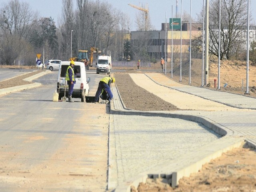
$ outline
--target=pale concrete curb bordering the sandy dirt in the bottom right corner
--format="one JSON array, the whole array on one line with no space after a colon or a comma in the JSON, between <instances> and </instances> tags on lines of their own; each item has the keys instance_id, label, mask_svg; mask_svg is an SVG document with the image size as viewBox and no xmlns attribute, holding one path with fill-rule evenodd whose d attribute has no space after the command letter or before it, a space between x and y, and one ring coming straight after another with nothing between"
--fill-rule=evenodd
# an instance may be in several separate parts
<instances>
[{"instance_id":1,"label":"pale concrete curb bordering the sandy dirt in the bottom right corner","mask_svg":"<svg viewBox=\"0 0 256 192\"><path fill-rule=\"evenodd\" d=\"M136 177L130 178L129 181L121 183L114 191L130 192L132 186L138 188L138 185L141 182L145 183L148 178L164 178L165 182L175 187L182 177L189 177L191 173L198 172L204 164L220 157L222 153L245 144L244 140L239 138L221 138L220 140L202 146L201 150L198 150L199 152L192 151L184 154L178 158L178 161L177 159L170 160L168 164L157 165L148 172L140 173ZM215 148L211 150L212 145L216 145L218 150Z\"/></svg>"}]
</instances>

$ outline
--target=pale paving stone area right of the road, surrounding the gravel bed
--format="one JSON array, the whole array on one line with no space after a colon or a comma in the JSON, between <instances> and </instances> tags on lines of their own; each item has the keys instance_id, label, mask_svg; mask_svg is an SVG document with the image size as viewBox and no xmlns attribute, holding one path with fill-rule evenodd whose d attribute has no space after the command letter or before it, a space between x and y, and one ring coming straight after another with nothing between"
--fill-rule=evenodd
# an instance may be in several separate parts
<instances>
[{"instance_id":1,"label":"pale paving stone area right of the road, surrounding the gravel bed","mask_svg":"<svg viewBox=\"0 0 256 192\"><path fill-rule=\"evenodd\" d=\"M130 110L112 86L109 188L124 191L145 175L182 169L243 140L256 145L256 98L183 85L160 73L130 76L142 88L187 110Z\"/></svg>"}]
</instances>

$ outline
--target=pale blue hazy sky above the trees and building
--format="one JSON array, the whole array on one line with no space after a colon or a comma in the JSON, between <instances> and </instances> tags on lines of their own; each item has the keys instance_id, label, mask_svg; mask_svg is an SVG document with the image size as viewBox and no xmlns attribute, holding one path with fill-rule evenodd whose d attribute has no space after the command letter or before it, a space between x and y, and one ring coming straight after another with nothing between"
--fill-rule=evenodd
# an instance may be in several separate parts
<instances>
[{"instance_id":1,"label":"pale blue hazy sky above the trees and building","mask_svg":"<svg viewBox=\"0 0 256 192\"><path fill-rule=\"evenodd\" d=\"M209 0L210 1L210 0ZM0 6L3 3L9 2L9 0L0 0ZM20 2L28 2L34 11L38 11L41 17L54 18L56 25L58 26L58 16L61 16L62 11L62 0L20 0ZM136 12L139 10L129 6L128 4L134 4L136 6L148 5L149 15L152 25L156 30L161 30L161 23L165 22L167 15L168 18L172 17L172 6L173 6L173 17L176 14L176 0L106 0L106 2L112 4L114 8L121 10L126 13L132 22L130 30L136 30L135 18ZM192 17L196 18L202 10L203 2L205 0L191 0L191 12ZM252 18L256 20L256 0L250 0L250 11L252 13ZM74 6L76 6L76 0L73 0ZM181 10L181 0L178 0L178 12ZM186 11L190 14L190 0L182 0L182 12Z\"/></svg>"}]
</instances>

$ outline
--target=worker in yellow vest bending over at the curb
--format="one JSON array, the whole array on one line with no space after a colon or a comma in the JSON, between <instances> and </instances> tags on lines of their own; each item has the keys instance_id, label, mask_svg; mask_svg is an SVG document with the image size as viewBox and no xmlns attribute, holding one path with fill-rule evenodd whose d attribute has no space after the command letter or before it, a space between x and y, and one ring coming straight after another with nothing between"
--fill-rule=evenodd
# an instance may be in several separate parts
<instances>
[{"instance_id":1,"label":"worker in yellow vest bending over at the curb","mask_svg":"<svg viewBox=\"0 0 256 192\"><path fill-rule=\"evenodd\" d=\"M116 80L114 77L104 77L100 80L99 82L99 86L98 86L98 90L95 94L95 100L94 102L98 102L100 94L102 92L102 89L104 88L106 90L106 92L108 93L108 101L110 101L113 98L113 94L110 90L110 84L114 83Z\"/></svg>"}]
</instances>

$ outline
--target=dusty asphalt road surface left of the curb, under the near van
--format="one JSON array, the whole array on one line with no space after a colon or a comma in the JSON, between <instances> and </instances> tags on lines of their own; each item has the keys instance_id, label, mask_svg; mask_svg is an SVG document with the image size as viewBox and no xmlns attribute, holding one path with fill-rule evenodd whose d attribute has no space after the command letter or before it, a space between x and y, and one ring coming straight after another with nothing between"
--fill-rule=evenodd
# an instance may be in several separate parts
<instances>
[{"instance_id":1,"label":"dusty asphalt road surface left of the curb, under the near van","mask_svg":"<svg viewBox=\"0 0 256 192\"><path fill-rule=\"evenodd\" d=\"M57 74L34 80L38 88L0 96L0 191L106 190L106 105L52 102ZM94 96L104 74L89 76Z\"/></svg>"}]
</instances>

